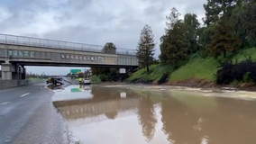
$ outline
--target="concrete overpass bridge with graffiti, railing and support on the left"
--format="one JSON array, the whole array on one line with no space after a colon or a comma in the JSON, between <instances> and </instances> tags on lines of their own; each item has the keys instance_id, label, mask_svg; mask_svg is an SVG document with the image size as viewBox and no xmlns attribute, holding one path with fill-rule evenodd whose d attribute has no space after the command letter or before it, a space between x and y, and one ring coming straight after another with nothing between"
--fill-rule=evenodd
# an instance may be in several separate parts
<instances>
[{"instance_id":1,"label":"concrete overpass bridge with graffiti, railing and support on the left","mask_svg":"<svg viewBox=\"0 0 256 144\"><path fill-rule=\"evenodd\" d=\"M2 79L25 79L24 66L138 67L134 49L103 51L104 46L0 34Z\"/></svg>"}]
</instances>

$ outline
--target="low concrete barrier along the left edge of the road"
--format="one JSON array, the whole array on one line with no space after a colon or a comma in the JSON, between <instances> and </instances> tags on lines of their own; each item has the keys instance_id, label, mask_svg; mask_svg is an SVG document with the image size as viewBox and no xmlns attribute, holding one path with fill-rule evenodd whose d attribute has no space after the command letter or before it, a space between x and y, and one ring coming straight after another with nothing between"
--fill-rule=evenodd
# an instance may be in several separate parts
<instances>
[{"instance_id":1,"label":"low concrete barrier along the left edge of the road","mask_svg":"<svg viewBox=\"0 0 256 144\"><path fill-rule=\"evenodd\" d=\"M0 80L0 89L42 83L43 79Z\"/></svg>"}]
</instances>

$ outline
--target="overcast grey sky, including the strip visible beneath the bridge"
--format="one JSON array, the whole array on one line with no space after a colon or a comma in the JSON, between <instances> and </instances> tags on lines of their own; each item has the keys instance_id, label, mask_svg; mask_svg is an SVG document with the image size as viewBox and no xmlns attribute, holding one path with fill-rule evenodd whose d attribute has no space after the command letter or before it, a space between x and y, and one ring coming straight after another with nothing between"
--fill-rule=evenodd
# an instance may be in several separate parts
<instances>
[{"instance_id":1,"label":"overcast grey sky, including the strip visible beneath the bridge","mask_svg":"<svg viewBox=\"0 0 256 144\"><path fill-rule=\"evenodd\" d=\"M145 24L152 28L160 54L165 16L172 7L197 14L201 22L206 0L0 0L0 32L136 49ZM65 75L71 67L27 67L41 74ZM74 67L72 67L74 68Z\"/></svg>"}]
</instances>

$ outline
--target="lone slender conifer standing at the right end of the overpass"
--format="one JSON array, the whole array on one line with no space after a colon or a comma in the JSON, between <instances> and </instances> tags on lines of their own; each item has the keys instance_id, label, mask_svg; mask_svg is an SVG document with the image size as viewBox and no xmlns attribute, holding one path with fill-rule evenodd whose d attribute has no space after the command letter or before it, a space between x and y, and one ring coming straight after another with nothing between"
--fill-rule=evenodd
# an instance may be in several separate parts
<instances>
[{"instance_id":1,"label":"lone slender conifer standing at the right end of the overpass","mask_svg":"<svg viewBox=\"0 0 256 144\"><path fill-rule=\"evenodd\" d=\"M141 32L136 55L139 59L139 64L142 67L146 67L147 72L150 71L149 66L154 60L155 43L153 37L151 26L146 24Z\"/></svg>"}]
</instances>

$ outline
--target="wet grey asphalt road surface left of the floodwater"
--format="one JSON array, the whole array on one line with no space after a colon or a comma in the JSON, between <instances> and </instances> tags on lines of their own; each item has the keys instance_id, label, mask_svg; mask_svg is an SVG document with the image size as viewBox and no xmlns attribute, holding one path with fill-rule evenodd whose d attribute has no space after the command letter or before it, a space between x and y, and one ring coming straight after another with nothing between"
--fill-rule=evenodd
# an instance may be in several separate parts
<instances>
[{"instance_id":1,"label":"wet grey asphalt road surface left of the floodwater","mask_svg":"<svg viewBox=\"0 0 256 144\"><path fill-rule=\"evenodd\" d=\"M65 121L45 84L0 91L0 144L70 143Z\"/></svg>"}]
</instances>

